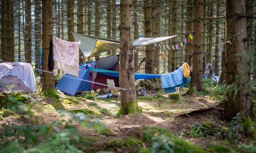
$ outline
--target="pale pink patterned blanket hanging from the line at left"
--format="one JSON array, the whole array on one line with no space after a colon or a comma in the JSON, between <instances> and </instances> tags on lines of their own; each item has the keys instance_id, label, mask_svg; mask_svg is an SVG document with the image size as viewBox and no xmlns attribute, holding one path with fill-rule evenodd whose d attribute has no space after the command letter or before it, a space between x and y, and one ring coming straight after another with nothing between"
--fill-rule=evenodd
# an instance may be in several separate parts
<instances>
[{"instance_id":1,"label":"pale pink patterned blanket hanging from the line at left","mask_svg":"<svg viewBox=\"0 0 256 153\"><path fill-rule=\"evenodd\" d=\"M79 43L54 36L53 60L54 68L78 77Z\"/></svg>"}]
</instances>

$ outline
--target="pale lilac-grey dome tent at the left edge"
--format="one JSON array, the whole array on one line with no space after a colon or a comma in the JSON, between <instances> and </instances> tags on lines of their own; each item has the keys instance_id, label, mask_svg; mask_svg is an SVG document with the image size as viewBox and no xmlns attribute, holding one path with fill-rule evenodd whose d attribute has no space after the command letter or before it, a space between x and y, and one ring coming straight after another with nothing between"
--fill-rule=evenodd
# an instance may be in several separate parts
<instances>
[{"instance_id":1,"label":"pale lilac-grey dome tent at the left edge","mask_svg":"<svg viewBox=\"0 0 256 153\"><path fill-rule=\"evenodd\" d=\"M14 85L12 90L36 91L35 75L31 64L0 63L0 92L3 92L7 85Z\"/></svg>"}]
</instances>

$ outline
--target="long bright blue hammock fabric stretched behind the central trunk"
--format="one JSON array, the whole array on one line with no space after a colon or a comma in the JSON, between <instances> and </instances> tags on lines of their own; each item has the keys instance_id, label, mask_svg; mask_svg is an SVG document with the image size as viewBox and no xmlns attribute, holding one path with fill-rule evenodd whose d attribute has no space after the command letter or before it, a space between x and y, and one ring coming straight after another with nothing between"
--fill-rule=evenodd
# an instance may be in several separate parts
<instances>
[{"instance_id":1,"label":"long bright blue hammock fabric stretched behind the central trunk","mask_svg":"<svg viewBox=\"0 0 256 153\"><path fill-rule=\"evenodd\" d=\"M92 71L99 72L101 74L110 75L112 77L119 78L119 72L118 71L112 71L112 70L106 70L106 69L100 69L100 68L92 68L88 67L88 69ZM134 73L135 79L152 79L152 78L159 78L160 74L148 74L148 73Z\"/></svg>"}]
</instances>

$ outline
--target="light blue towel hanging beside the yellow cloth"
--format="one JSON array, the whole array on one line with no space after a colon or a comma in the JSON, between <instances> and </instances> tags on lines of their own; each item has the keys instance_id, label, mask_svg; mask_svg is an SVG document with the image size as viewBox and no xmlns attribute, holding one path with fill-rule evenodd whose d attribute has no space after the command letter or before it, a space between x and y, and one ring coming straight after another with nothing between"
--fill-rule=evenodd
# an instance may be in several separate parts
<instances>
[{"instance_id":1,"label":"light blue towel hanging beside the yellow cloth","mask_svg":"<svg viewBox=\"0 0 256 153\"><path fill-rule=\"evenodd\" d=\"M162 88L166 93L176 91L175 87L184 87L190 82L189 78L183 76L183 66L171 73L160 74Z\"/></svg>"}]
</instances>

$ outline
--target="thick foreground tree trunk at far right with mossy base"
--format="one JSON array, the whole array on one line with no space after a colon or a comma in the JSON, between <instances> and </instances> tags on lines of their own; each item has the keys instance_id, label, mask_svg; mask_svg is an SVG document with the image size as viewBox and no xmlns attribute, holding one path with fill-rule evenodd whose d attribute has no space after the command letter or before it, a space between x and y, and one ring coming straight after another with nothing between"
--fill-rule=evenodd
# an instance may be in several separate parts
<instances>
[{"instance_id":1,"label":"thick foreground tree trunk at far right with mossy base","mask_svg":"<svg viewBox=\"0 0 256 153\"><path fill-rule=\"evenodd\" d=\"M224 117L231 120L237 113L249 113L252 105L250 61L246 59L245 0L226 0L226 94ZM239 55L238 55L239 54Z\"/></svg>"}]
</instances>

